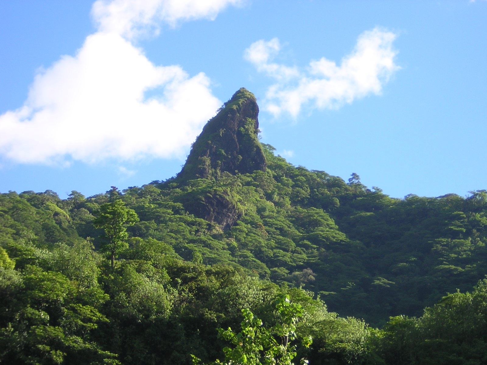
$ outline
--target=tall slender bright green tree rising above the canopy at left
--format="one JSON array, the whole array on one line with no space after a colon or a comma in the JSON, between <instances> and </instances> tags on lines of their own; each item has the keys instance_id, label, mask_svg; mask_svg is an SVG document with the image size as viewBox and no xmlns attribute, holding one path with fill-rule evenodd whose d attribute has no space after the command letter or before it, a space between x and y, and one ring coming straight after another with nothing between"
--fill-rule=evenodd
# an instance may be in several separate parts
<instances>
[{"instance_id":1,"label":"tall slender bright green tree rising above the canopy at left","mask_svg":"<svg viewBox=\"0 0 487 365\"><path fill-rule=\"evenodd\" d=\"M120 199L109 203L103 203L95 212L93 224L96 228L105 230L105 238L108 243L101 247L101 251L108 253L112 259L112 268L115 255L128 247L127 226L139 221L137 213L133 209L127 208Z\"/></svg>"}]
</instances>

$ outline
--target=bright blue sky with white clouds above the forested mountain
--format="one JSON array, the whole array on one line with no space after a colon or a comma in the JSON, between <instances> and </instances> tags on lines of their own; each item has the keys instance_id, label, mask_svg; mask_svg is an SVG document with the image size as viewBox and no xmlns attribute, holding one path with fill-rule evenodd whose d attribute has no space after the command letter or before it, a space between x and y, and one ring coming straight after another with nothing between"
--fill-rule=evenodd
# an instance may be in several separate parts
<instances>
[{"instance_id":1,"label":"bright blue sky with white clouds above the forested mountain","mask_svg":"<svg viewBox=\"0 0 487 365\"><path fill-rule=\"evenodd\" d=\"M487 189L487 1L1 1L0 192L174 176L240 87L290 163Z\"/></svg>"}]
</instances>

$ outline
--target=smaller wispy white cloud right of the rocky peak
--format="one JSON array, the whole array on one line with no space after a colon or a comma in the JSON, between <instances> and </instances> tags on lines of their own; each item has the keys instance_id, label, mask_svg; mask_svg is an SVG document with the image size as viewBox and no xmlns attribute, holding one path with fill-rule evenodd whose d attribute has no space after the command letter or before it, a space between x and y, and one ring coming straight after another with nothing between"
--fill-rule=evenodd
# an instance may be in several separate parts
<instances>
[{"instance_id":1,"label":"smaller wispy white cloud right of the rocky peak","mask_svg":"<svg viewBox=\"0 0 487 365\"><path fill-rule=\"evenodd\" d=\"M336 109L369 94L380 94L399 69L392 47L395 37L381 28L362 33L354 51L339 66L325 57L311 61L304 70L273 63L281 49L277 38L254 42L244 58L276 80L266 92L264 109L276 116L287 112L296 117L303 105Z\"/></svg>"}]
</instances>

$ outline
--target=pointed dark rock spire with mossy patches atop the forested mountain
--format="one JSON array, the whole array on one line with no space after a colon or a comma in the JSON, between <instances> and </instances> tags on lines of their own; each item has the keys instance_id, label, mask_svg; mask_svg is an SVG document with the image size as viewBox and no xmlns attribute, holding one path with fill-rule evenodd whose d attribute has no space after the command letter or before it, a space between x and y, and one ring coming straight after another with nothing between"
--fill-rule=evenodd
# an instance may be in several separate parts
<instances>
[{"instance_id":1,"label":"pointed dark rock spire with mossy patches atop the forested mountain","mask_svg":"<svg viewBox=\"0 0 487 365\"><path fill-rule=\"evenodd\" d=\"M224 171L232 175L265 171L258 114L255 96L244 88L237 91L206 123L177 178L218 179Z\"/></svg>"}]
</instances>

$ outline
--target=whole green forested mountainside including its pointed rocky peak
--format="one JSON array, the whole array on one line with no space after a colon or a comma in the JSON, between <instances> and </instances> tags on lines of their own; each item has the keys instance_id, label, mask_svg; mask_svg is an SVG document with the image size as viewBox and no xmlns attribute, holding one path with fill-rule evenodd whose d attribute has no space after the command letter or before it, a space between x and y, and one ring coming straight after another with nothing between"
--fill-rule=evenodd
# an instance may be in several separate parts
<instances>
[{"instance_id":1,"label":"whole green forested mountainside including its pointed rocky peak","mask_svg":"<svg viewBox=\"0 0 487 365\"><path fill-rule=\"evenodd\" d=\"M168 181L1 194L0 363L238 363L249 311L296 364L485 363L487 191L393 199L258 127L241 89Z\"/></svg>"}]
</instances>

